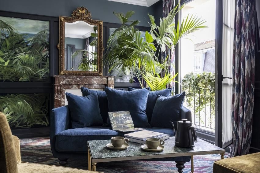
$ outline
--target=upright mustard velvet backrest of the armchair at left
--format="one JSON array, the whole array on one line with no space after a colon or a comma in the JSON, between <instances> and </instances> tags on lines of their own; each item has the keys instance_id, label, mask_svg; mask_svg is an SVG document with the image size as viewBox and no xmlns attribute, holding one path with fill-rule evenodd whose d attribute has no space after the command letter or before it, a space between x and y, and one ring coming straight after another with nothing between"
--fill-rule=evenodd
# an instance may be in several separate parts
<instances>
[{"instance_id":1,"label":"upright mustard velvet backrest of the armchair at left","mask_svg":"<svg viewBox=\"0 0 260 173\"><path fill-rule=\"evenodd\" d=\"M0 170L1 173L18 173L12 132L2 112L0 112Z\"/></svg>"}]
</instances>

